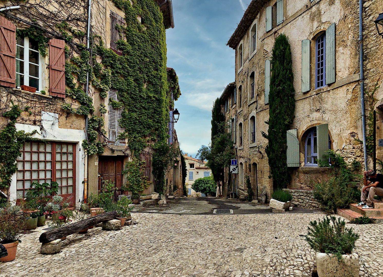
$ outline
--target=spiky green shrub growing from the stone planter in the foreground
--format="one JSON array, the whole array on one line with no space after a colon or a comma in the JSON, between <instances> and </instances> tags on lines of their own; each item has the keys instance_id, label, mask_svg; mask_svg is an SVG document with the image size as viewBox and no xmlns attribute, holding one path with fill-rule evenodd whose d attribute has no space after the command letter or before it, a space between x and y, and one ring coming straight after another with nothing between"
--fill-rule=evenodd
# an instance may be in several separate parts
<instances>
[{"instance_id":1,"label":"spiky green shrub growing from the stone planter in the foreground","mask_svg":"<svg viewBox=\"0 0 383 277\"><path fill-rule=\"evenodd\" d=\"M351 254L359 238L352 228L346 228L345 225L344 220L334 216L323 217L319 222L310 221L306 241L314 251L334 254L340 261L342 255Z\"/></svg>"}]
</instances>

